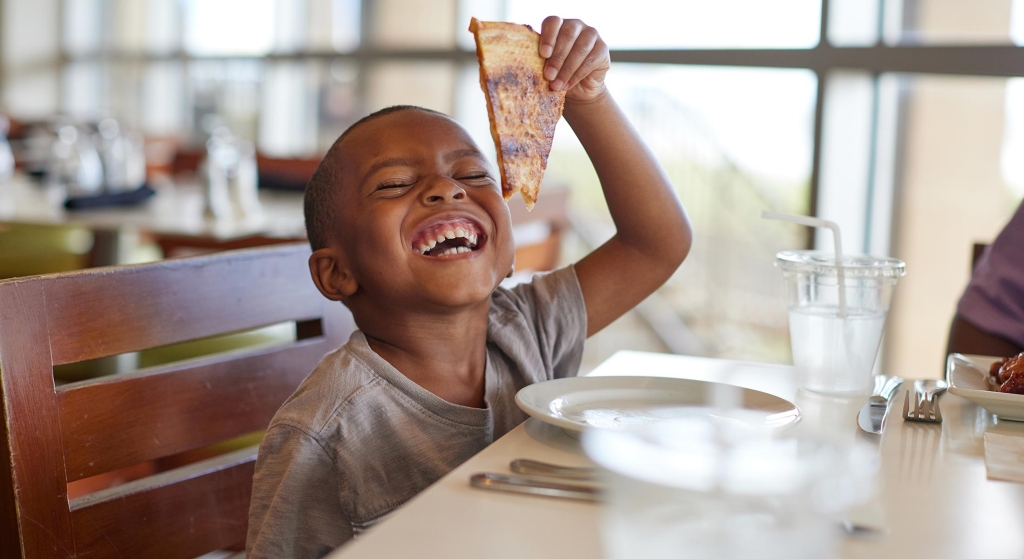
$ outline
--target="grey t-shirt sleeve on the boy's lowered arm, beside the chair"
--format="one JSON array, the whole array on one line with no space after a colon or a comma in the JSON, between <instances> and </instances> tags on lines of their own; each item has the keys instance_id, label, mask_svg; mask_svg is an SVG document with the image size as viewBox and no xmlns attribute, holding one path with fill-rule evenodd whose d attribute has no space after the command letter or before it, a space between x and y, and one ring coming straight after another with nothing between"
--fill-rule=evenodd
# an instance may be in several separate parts
<instances>
[{"instance_id":1,"label":"grey t-shirt sleeve on the boy's lowered arm, beside the chair","mask_svg":"<svg viewBox=\"0 0 1024 559\"><path fill-rule=\"evenodd\" d=\"M256 459L246 557L323 557L351 538L334 461L309 434L272 426Z\"/></svg>"}]
</instances>

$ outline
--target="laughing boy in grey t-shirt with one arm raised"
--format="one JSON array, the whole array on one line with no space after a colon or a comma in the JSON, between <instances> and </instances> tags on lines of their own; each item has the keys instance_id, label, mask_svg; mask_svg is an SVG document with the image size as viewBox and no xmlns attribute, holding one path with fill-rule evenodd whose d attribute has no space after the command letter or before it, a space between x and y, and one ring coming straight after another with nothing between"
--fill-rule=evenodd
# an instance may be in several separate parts
<instances>
[{"instance_id":1,"label":"laughing boy in grey t-shirt with one arm raised","mask_svg":"<svg viewBox=\"0 0 1024 559\"><path fill-rule=\"evenodd\" d=\"M544 20L541 56L617 232L574 266L500 289L514 247L497 174L455 121L391 107L349 128L306 191L309 269L359 331L260 446L248 556L318 557L525 419L523 386L574 375L583 341L679 266L690 225L604 86L608 49Z\"/></svg>"}]
</instances>

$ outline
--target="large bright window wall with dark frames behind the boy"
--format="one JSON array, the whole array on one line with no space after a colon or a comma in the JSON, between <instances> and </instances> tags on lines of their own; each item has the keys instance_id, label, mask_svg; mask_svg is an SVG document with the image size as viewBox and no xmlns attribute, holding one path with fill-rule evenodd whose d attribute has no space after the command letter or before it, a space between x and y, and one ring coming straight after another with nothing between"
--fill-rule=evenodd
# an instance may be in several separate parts
<instances>
[{"instance_id":1,"label":"large bright window wall with dark frames behind the boy","mask_svg":"<svg viewBox=\"0 0 1024 559\"><path fill-rule=\"evenodd\" d=\"M217 115L279 157L322 153L394 103L453 114L493 154L469 17L536 28L555 12L595 25L613 51L609 87L697 233L657 296L673 318L643 309L624 318L640 325L623 337L633 348L788 360L774 254L827 240L761 220L771 208L835 219L849 252L906 261L884 365L935 376L968 248L990 241L1024 197L1024 0L633 0L630 9L611 0L40 0L4 9L5 46L18 45L5 49L10 109L114 115L194 141ZM59 51L48 46L55 36ZM593 168L564 123L547 180L572 189L581 244L610 234ZM653 342L635 337L643 325ZM592 351L622 347L606 341Z\"/></svg>"}]
</instances>

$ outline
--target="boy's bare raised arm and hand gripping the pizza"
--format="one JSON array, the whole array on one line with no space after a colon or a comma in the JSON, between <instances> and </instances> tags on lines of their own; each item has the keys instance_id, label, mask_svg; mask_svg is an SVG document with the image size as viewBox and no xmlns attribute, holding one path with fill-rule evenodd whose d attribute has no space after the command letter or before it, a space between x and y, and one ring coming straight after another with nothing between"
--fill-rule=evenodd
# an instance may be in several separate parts
<instances>
[{"instance_id":1,"label":"boy's bare raised arm and hand gripping the pizza","mask_svg":"<svg viewBox=\"0 0 1024 559\"><path fill-rule=\"evenodd\" d=\"M615 235L575 264L587 336L635 307L672 275L693 231L654 155L604 86L608 47L579 19L550 16L541 31L545 78L567 89L566 122L594 164Z\"/></svg>"}]
</instances>

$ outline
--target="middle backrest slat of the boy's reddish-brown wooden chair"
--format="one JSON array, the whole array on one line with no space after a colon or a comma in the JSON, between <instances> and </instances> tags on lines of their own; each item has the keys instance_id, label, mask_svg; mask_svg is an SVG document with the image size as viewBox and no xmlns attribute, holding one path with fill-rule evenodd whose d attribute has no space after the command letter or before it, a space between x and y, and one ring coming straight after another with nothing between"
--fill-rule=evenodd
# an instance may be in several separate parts
<instances>
[{"instance_id":1,"label":"middle backrest slat of the boy's reddish-brown wooden chair","mask_svg":"<svg viewBox=\"0 0 1024 559\"><path fill-rule=\"evenodd\" d=\"M294 363L323 356L321 341L58 390L68 480L266 428L309 373Z\"/></svg>"}]
</instances>

